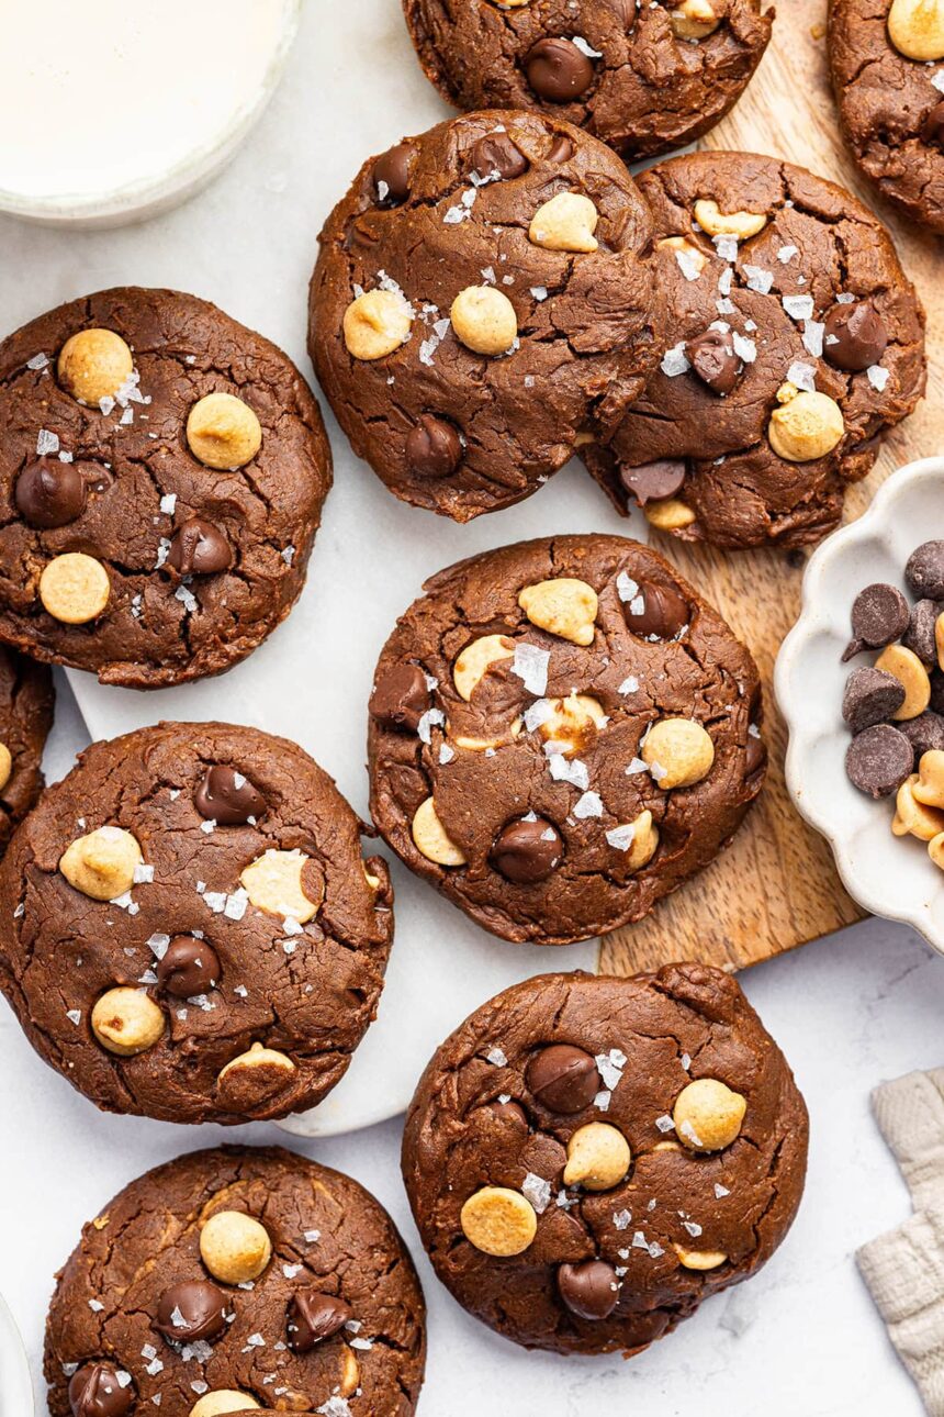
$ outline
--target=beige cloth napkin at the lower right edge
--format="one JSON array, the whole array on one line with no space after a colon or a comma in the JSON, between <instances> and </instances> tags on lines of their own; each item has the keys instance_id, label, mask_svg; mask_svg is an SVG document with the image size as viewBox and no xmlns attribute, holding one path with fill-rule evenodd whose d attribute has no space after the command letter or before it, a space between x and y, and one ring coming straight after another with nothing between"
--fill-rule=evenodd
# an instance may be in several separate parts
<instances>
[{"instance_id":1,"label":"beige cloth napkin at the lower right edge","mask_svg":"<svg viewBox=\"0 0 944 1417\"><path fill-rule=\"evenodd\" d=\"M914 1214L856 1254L859 1270L931 1417L944 1417L944 1068L872 1094Z\"/></svg>"}]
</instances>

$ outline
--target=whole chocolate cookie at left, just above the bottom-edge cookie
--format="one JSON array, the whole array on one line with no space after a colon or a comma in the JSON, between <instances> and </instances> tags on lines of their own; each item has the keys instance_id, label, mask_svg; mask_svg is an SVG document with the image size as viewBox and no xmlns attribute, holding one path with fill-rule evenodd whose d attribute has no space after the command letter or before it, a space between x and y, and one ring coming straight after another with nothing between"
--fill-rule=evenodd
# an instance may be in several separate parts
<instances>
[{"instance_id":1,"label":"whole chocolate cookie at left, just above the bottom-edge cookie","mask_svg":"<svg viewBox=\"0 0 944 1417\"><path fill-rule=\"evenodd\" d=\"M393 932L361 830L306 752L255 728L93 744L0 866L0 986L106 1111L231 1124L313 1107L375 1015Z\"/></svg>"}]
</instances>

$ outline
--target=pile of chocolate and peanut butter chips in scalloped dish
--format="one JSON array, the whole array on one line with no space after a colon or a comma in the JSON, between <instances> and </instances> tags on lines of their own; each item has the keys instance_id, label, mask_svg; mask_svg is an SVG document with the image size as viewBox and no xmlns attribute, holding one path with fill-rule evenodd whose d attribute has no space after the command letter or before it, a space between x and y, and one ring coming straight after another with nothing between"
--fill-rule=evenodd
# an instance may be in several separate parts
<instances>
[{"instance_id":1,"label":"pile of chocolate and peanut butter chips in scalloped dish","mask_svg":"<svg viewBox=\"0 0 944 1417\"><path fill-rule=\"evenodd\" d=\"M845 767L860 792L894 796L894 835L926 842L944 870L944 541L911 553L904 582L913 602L876 582L852 605L844 659L877 657L846 680L842 717L852 743Z\"/></svg>"}]
</instances>

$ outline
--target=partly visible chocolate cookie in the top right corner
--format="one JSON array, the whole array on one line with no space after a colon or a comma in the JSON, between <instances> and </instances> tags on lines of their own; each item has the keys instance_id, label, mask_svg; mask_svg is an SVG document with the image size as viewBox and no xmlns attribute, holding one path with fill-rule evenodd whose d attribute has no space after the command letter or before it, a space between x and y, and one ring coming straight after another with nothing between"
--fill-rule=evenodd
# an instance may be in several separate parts
<instances>
[{"instance_id":1,"label":"partly visible chocolate cookie in the top right corner","mask_svg":"<svg viewBox=\"0 0 944 1417\"><path fill-rule=\"evenodd\" d=\"M944 7L829 0L829 68L865 176L906 217L944 232Z\"/></svg>"}]
</instances>

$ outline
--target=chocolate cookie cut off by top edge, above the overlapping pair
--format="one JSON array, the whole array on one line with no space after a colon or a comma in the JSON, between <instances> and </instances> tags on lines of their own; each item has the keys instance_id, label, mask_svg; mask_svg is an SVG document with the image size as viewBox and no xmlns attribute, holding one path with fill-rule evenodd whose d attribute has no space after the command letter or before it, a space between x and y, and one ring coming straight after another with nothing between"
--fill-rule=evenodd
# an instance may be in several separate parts
<instances>
[{"instance_id":1,"label":"chocolate cookie cut off by top edge, above the overlapping pair","mask_svg":"<svg viewBox=\"0 0 944 1417\"><path fill-rule=\"evenodd\" d=\"M565 118L627 160L684 147L739 99L770 40L760 0L403 0L426 77L457 108Z\"/></svg>"}]
</instances>

